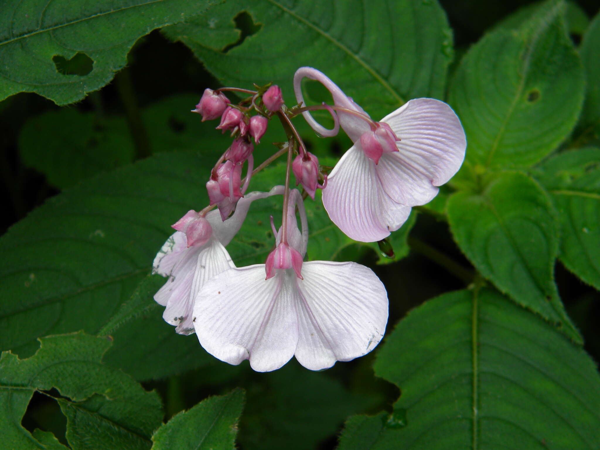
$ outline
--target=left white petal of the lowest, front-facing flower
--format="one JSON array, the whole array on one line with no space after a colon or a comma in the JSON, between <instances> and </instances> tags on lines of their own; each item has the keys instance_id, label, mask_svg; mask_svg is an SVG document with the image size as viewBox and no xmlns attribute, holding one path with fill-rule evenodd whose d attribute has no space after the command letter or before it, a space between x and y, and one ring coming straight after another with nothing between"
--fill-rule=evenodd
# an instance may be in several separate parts
<instances>
[{"instance_id":1,"label":"left white petal of the lowest, front-facing flower","mask_svg":"<svg viewBox=\"0 0 600 450\"><path fill-rule=\"evenodd\" d=\"M298 343L295 277L292 270L278 271L265 280L265 265L259 264L211 278L194 305L202 347L229 364L250 359L259 372L286 364Z\"/></svg>"}]
</instances>

